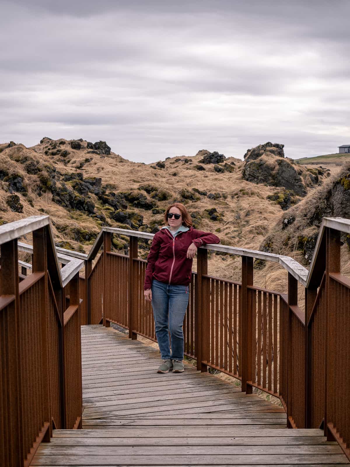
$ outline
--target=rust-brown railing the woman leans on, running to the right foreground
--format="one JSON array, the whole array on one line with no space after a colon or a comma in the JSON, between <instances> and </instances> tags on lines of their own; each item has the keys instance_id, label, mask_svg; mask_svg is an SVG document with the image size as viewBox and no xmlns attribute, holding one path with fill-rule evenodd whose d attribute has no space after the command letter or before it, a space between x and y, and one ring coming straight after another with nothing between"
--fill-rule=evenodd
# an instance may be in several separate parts
<instances>
[{"instance_id":1,"label":"rust-brown railing the woman leans on, running to the right foreground","mask_svg":"<svg viewBox=\"0 0 350 467\"><path fill-rule=\"evenodd\" d=\"M242 391L257 388L280 398L289 427L323 427L350 458L350 280L340 274L341 232L350 233L348 219L324 219L309 271L283 255L199 248L183 331L185 354L197 360L198 370L218 369L241 380ZM113 233L129 236L129 256L110 251ZM132 339L139 334L156 340L143 297L147 263L137 257L138 237L153 235L108 227L101 236L104 325L117 323ZM210 276L208 250L240 255L241 282ZM286 293L254 286L254 258L287 269ZM305 289L305 311L298 306L298 283Z\"/></svg>"}]
</instances>

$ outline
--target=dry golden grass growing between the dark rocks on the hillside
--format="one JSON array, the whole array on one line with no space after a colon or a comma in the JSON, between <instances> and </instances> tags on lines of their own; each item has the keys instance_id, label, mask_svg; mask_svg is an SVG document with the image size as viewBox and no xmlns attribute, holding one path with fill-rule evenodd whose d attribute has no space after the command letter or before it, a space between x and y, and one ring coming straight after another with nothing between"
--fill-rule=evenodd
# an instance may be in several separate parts
<instances>
[{"instance_id":1,"label":"dry golden grass growing between the dark rocks on the hillside","mask_svg":"<svg viewBox=\"0 0 350 467\"><path fill-rule=\"evenodd\" d=\"M287 215L287 212L283 212L279 205L266 199L266 196L276 191L276 188L262 184L256 185L243 180L241 173L244 163L239 159L230 157L225 161L226 163L234 162L236 164L233 166L233 173L217 173L213 164L202 164L205 170L196 170L194 166L203 157L200 154L190 157L173 157L165 161L164 169L154 169L152 167L155 167L155 163L134 163L114 153L106 156L88 154L85 141L82 142L83 148L80 150L71 149L70 141L64 139L57 141L64 142L64 144L58 146L60 149L66 149L70 152L66 159L59 155L45 155L44 151L50 143L48 140L44 140L42 144L37 144L32 148L26 148L23 145L6 148L7 144L0 145L0 150L2 149L0 170L6 170L9 174L21 175L24 183L28 186L28 197L17 193L24 206L21 214L9 210L5 203L8 196L8 192L5 191L7 184L0 182L0 220L10 222L44 212L49 214L52 219L55 240L70 241L71 245L76 249L79 247L79 243L73 239L72 229L80 227L97 234L100 231L100 225L85 212L76 210L69 212L62 206L55 204L49 191L39 197L36 194L38 177L29 175L24 170L24 165L28 161L38 163L42 173L46 173L46 166L54 166L60 173L82 172L84 178L102 177L102 184L108 184L109 188L114 191L137 190L141 184L151 183L159 189L169 191L173 197L172 199L179 199L179 191L182 188L189 190L198 188L208 193L220 193L222 197L217 200L210 200L205 196L201 196L200 200L189 200L186 204L189 212L197 211L203 214L204 209L215 207L218 212L224 213L224 220L221 222L203 218L200 226L202 230L215 232L219 228L220 232L216 233L222 244L252 249L259 249L259 245L264 242L267 234L269 234L269 236L273 236L274 253L289 254L300 262L302 256L296 249L298 232L303 231L305 234L312 234L316 229L316 227L308 226L305 213L317 205L322 193L329 188L334 178L330 177L326 179L321 187L310 190L307 198L289 209L288 215L295 212L297 219L294 222L293 229L290 228L292 226L288 228L290 239L286 246L285 233L287 229L282 231L279 228L279 222L282 217ZM79 164L83 163L86 158L91 158L91 161L84 163L83 168L77 169ZM274 159L269 161L266 158L266 163L274 164L275 161ZM174 175L175 173L176 175ZM97 212L103 212L98 198L94 195L91 195L91 198L95 202ZM171 200L161 201L157 204L159 207L166 208L169 202ZM162 218L161 215L153 215L151 211L134 210L143 215L145 224L149 224L155 218L160 220ZM111 226L117 225L112 219L108 219L108 223ZM271 226L274 227L271 229ZM91 248L91 242L84 243L82 246L84 251L88 252ZM343 256L347 258L345 248L343 250ZM343 262L344 267L349 268L349 262L346 260ZM209 272L215 276L240 281L241 260L239 257L211 254L208 268ZM196 270L196 262L194 262L194 270ZM265 268L254 270L254 283L264 288L286 291L287 274L278 264L267 263Z\"/></svg>"}]
</instances>

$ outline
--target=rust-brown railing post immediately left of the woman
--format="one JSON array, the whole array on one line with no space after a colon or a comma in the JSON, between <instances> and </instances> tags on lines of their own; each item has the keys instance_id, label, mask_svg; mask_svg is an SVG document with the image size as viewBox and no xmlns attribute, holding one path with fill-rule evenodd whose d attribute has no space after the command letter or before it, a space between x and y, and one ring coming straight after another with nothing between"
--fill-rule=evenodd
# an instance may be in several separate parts
<instances>
[{"instance_id":1,"label":"rust-brown railing post immediately left of the woman","mask_svg":"<svg viewBox=\"0 0 350 467\"><path fill-rule=\"evenodd\" d=\"M129 237L129 291L128 291L128 316L129 316L129 339L136 340L137 333L133 332L137 330L137 313L134 312L134 308L137 304L137 277L136 277L136 262L137 259L137 246L138 238Z\"/></svg>"}]
</instances>

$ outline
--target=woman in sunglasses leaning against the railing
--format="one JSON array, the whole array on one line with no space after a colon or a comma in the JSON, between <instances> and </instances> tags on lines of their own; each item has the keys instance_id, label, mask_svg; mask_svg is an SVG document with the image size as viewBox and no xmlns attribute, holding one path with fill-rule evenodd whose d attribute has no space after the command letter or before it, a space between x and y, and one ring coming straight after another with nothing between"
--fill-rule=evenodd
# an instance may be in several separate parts
<instances>
[{"instance_id":1,"label":"woman in sunglasses leaning against the railing","mask_svg":"<svg viewBox=\"0 0 350 467\"><path fill-rule=\"evenodd\" d=\"M152 301L155 333L163 363L158 373L181 373L183 367L182 324L189 301L192 259L197 248L219 243L210 232L192 227L184 205L174 203L164 213L165 226L154 235L147 257L144 295ZM169 342L171 338L171 353Z\"/></svg>"}]
</instances>

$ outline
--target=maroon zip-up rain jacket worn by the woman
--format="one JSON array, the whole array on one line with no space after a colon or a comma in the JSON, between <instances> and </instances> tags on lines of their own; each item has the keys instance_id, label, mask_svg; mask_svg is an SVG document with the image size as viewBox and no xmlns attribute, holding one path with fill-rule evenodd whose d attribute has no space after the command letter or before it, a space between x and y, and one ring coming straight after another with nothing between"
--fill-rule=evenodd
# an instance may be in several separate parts
<instances>
[{"instance_id":1,"label":"maroon zip-up rain jacket worn by the woman","mask_svg":"<svg viewBox=\"0 0 350 467\"><path fill-rule=\"evenodd\" d=\"M150 289L152 280L173 285L188 285L192 274L192 259L187 258L191 243L201 247L207 243L220 243L219 237L190 227L187 232L178 233L175 238L168 229L157 232L147 256L144 290Z\"/></svg>"}]
</instances>

